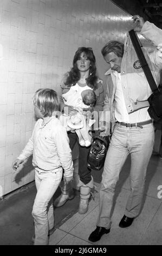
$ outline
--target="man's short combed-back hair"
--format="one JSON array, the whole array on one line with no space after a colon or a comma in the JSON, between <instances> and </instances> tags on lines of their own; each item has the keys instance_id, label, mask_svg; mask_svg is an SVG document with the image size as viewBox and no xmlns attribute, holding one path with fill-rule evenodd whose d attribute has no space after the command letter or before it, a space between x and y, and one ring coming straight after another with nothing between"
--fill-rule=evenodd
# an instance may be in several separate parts
<instances>
[{"instance_id":1,"label":"man's short combed-back hair","mask_svg":"<svg viewBox=\"0 0 162 256\"><path fill-rule=\"evenodd\" d=\"M105 57L108 53L114 52L118 57L123 56L124 54L124 44L120 41L109 41L105 46L103 46L101 53Z\"/></svg>"}]
</instances>

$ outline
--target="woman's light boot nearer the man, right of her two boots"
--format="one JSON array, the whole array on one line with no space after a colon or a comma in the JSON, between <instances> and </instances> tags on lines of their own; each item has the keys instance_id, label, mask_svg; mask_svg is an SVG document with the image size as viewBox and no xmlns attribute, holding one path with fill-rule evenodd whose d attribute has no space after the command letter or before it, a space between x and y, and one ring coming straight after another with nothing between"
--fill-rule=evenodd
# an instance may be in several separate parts
<instances>
[{"instance_id":1,"label":"woman's light boot nearer the man, right of her two boots","mask_svg":"<svg viewBox=\"0 0 162 256\"><path fill-rule=\"evenodd\" d=\"M80 202L79 202L78 212L79 214L86 214L86 212L88 211L90 191L91 191L91 188L94 187L93 177L92 177L92 180L90 180L89 183L86 185L79 180L79 186L80 186Z\"/></svg>"}]
</instances>

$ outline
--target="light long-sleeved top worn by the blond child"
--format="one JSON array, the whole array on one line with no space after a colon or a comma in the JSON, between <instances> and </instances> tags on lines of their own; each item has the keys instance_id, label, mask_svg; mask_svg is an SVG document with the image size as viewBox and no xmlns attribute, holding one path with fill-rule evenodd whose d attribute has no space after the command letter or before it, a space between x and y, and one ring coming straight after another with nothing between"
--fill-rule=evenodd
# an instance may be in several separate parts
<instances>
[{"instance_id":1,"label":"light long-sleeved top worn by the blond child","mask_svg":"<svg viewBox=\"0 0 162 256\"><path fill-rule=\"evenodd\" d=\"M64 176L73 176L72 151L69 147L67 132L60 120L51 117L42 125L43 119L38 119L31 138L18 159L25 160L33 154L35 169L64 169Z\"/></svg>"}]
</instances>

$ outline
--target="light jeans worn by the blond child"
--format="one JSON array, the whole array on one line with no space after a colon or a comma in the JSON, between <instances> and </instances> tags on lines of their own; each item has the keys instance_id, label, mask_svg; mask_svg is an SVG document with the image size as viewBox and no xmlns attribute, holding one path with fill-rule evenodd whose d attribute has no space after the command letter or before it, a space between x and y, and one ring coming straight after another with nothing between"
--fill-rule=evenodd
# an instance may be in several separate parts
<instances>
[{"instance_id":1,"label":"light jeans worn by the blond child","mask_svg":"<svg viewBox=\"0 0 162 256\"><path fill-rule=\"evenodd\" d=\"M35 170L37 194L32 215L35 223L35 245L48 245L48 231L54 227L53 195L62 178L62 169L56 172Z\"/></svg>"}]
</instances>

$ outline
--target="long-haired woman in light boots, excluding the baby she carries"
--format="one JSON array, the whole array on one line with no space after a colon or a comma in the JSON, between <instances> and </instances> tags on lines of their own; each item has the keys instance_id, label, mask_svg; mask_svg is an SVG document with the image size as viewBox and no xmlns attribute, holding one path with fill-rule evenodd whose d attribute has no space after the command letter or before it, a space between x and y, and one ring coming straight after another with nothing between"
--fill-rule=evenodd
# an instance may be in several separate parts
<instances>
[{"instance_id":1,"label":"long-haired woman in light boots, excluding the baby she carries","mask_svg":"<svg viewBox=\"0 0 162 256\"><path fill-rule=\"evenodd\" d=\"M92 48L80 47L75 52L73 59L73 68L67 72L64 77L64 81L61 85L62 94L67 93L70 87L74 87L77 92L82 93L83 90L92 89L96 95L96 104L94 108L87 108L85 114L93 110L99 112L103 108L104 92L102 87L102 81L96 76L95 56ZM62 100L62 109L64 113L73 115L76 113L74 106L64 105ZM75 132L69 131L69 145L73 150L75 143L79 146L79 187L80 187L80 203L79 213L85 214L88 211L88 201L90 197L90 190L93 188L93 177L90 174L90 169L87 168L87 156L90 150L89 147L82 147L79 144L79 138ZM70 184L64 183L61 188L62 194L54 202L56 207L62 206L69 199L74 198L74 192Z\"/></svg>"}]
</instances>

